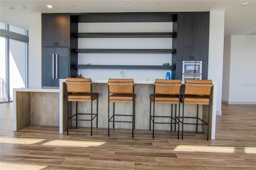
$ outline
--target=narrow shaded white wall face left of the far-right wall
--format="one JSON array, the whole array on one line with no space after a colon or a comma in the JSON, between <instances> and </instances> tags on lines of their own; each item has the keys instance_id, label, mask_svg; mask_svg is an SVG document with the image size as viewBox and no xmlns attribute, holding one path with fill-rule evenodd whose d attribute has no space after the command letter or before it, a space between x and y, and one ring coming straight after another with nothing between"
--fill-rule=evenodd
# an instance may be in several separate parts
<instances>
[{"instance_id":1,"label":"narrow shaded white wall face left of the far-right wall","mask_svg":"<svg viewBox=\"0 0 256 170\"><path fill-rule=\"evenodd\" d=\"M222 102L229 100L229 77L230 77L230 50L231 36L224 38L223 54L223 77L222 77Z\"/></svg>"}]
</instances>

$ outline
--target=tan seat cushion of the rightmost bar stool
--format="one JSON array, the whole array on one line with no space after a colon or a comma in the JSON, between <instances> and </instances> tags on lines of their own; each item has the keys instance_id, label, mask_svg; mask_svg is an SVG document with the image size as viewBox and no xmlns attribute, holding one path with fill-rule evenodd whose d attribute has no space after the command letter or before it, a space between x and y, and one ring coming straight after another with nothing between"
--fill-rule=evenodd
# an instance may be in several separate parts
<instances>
[{"instance_id":1,"label":"tan seat cushion of the rightmost bar stool","mask_svg":"<svg viewBox=\"0 0 256 170\"><path fill-rule=\"evenodd\" d=\"M185 98L183 99L183 96L181 96L180 101L182 103L188 103L188 104L199 104L199 105L208 105L209 104L209 98L199 95L185 95Z\"/></svg>"}]
</instances>

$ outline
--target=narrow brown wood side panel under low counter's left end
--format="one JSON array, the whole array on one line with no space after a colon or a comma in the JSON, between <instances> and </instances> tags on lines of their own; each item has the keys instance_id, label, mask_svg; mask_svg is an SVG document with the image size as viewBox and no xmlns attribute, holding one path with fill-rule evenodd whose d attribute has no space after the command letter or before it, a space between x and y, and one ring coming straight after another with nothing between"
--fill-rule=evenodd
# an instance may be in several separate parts
<instances>
[{"instance_id":1,"label":"narrow brown wood side panel under low counter's left end","mask_svg":"<svg viewBox=\"0 0 256 170\"><path fill-rule=\"evenodd\" d=\"M30 122L30 92L16 92L17 130L31 124Z\"/></svg>"}]
</instances>

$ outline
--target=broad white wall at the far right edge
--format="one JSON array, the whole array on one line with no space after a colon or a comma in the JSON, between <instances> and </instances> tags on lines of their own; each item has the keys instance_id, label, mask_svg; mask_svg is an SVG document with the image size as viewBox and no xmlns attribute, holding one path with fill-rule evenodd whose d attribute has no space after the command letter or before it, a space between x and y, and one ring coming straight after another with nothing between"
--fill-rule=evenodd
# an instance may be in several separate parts
<instances>
[{"instance_id":1,"label":"broad white wall at the far right edge","mask_svg":"<svg viewBox=\"0 0 256 170\"><path fill-rule=\"evenodd\" d=\"M231 36L229 104L256 104L256 36Z\"/></svg>"}]
</instances>

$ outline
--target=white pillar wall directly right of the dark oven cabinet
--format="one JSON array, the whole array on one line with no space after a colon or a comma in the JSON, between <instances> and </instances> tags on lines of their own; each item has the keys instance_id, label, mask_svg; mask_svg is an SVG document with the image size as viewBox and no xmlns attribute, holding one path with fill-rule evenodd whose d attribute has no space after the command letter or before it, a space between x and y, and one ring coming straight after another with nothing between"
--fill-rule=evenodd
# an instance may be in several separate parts
<instances>
[{"instance_id":1,"label":"white pillar wall directly right of the dark oven cabinet","mask_svg":"<svg viewBox=\"0 0 256 170\"><path fill-rule=\"evenodd\" d=\"M224 11L210 11L208 79L218 83L216 115L221 115Z\"/></svg>"}]
</instances>

